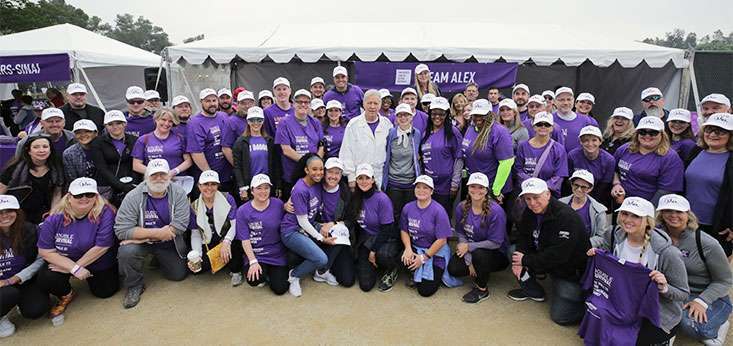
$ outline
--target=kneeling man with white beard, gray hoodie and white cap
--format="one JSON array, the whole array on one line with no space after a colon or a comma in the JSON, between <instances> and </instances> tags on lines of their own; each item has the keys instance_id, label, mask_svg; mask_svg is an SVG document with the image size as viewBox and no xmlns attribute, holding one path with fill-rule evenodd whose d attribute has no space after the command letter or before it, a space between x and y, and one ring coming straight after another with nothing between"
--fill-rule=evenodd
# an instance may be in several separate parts
<instances>
[{"instance_id":1,"label":"kneeling man with white beard, gray hoodie and white cap","mask_svg":"<svg viewBox=\"0 0 733 346\"><path fill-rule=\"evenodd\" d=\"M186 192L171 184L170 168L164 159L154 159L145 170L145 181L128 192L115 218L115 235L120 240L117 254L123 286L122 306L140 302L145 291L143 262L153 254L168 280L186 278L188 246L183 233L188 228L191 206Z\"/></svg>"}]
</instances>

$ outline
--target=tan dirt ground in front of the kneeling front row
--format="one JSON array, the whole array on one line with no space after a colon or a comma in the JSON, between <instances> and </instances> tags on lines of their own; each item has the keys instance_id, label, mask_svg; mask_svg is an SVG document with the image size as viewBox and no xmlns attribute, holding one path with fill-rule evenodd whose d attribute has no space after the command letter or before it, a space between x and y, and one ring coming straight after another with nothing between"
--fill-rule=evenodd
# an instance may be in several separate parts
<instances>
[{"instance_id":1,"label":"tan dirt ground in front of the kneeling front row","mask_svg":"<svg viewBox=\"0 0 733 346\"><path fill-rule=\"evenodd\" d=\"M91 296L85 285L53 327L47 318L11 317L16 334L2 345L51 344L455 344L582 345L577 327L549 319L549 305L514 302L509 271L492 276L491 297L477 305L461 302L468 284L422 298L404 284L363 293L358 287L331 287L308 278L303 296L275 296L266 287L246 283L231 287L226 273L168 282L146 273L140 304L122 308L123 291L106 300ZM728 339L732 336L729 333ZM696 345L677 338L676 345Z\"/></svg>"}]
</instances>

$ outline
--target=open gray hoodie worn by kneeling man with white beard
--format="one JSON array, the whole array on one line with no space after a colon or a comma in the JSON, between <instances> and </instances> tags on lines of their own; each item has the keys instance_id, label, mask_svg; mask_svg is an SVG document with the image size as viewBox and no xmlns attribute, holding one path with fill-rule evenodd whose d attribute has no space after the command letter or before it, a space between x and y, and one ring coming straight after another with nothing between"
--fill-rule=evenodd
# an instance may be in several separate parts
<instances>
[{"instance_id":1,"label":"open gray hoodie worn by kneeling man with white beard","mask_svg":"<svg viewBox=\"0 0 733 346\"><path fill-rule=\"evenodd\" d=\"M175 229L173 239L176 252L181 258L188 254L188 245L183 239L183 233L188 229L191 216L191 205L188 203L186 191L177 184L170 184L166 190L168 207L170 208L171 226ZM119 240L132 239L135 227L143 227L145 219L145 205L148 198L148 184L140 183L125 195L115 218L115 235Z\"/></svg>"}]
</instances>

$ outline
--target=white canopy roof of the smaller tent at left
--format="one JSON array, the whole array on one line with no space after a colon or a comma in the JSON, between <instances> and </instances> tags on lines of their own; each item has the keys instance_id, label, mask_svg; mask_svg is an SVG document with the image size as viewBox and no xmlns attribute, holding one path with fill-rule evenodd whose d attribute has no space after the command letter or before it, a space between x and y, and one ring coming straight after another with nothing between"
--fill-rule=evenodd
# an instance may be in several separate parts
<instances>
[{"instance_id":1,"label":"white canopy roof of the smaller tent at left","mask_svg":"<svg viewBox=\"0 0 733 346\"><path fill-rule=\"evenodd\" d=\"M160 56L72 24L0 36L0 56L67 53L81 68L160 65Z\"/></svg>"}]
</instances>

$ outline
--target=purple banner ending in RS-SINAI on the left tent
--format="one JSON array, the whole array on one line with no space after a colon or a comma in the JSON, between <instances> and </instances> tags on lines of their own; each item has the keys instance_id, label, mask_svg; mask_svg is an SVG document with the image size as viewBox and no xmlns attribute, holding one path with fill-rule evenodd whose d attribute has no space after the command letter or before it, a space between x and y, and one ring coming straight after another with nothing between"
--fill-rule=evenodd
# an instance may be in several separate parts
<instances>
[{"instance_id":1,"label":"purple banner ending in RS-SINAI on the left tent","mask_svg":"<svg viewBox=\"0 0 733 346\"><path fill-rule=\"evenodd\" d=\"M68 54L0 57L0 83L31 83L71 79Z\"/></svg>"}]
</instances>

